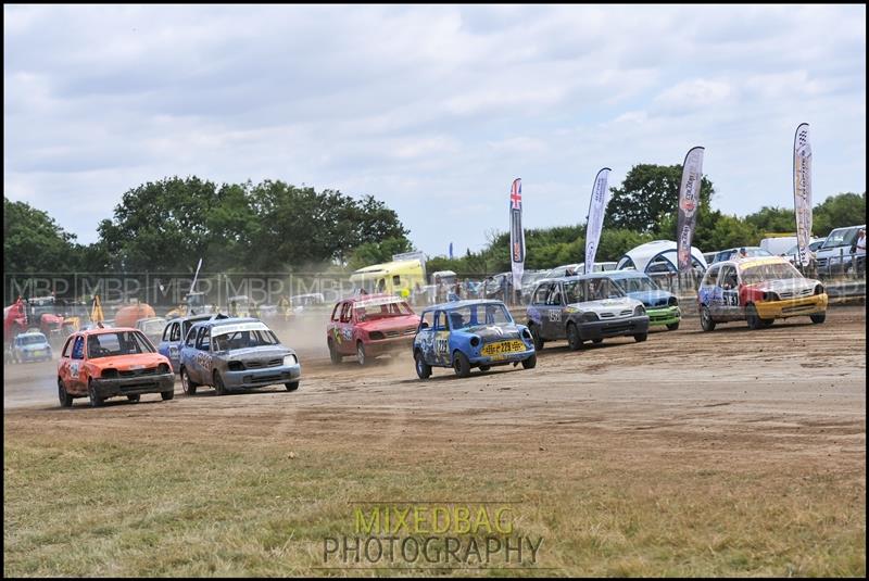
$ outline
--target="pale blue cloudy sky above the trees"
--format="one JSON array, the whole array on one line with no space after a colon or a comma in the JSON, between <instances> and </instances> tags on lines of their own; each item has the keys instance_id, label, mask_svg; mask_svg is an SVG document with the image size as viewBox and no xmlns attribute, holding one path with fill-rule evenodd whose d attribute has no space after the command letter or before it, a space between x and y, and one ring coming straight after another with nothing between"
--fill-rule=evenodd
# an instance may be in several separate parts
<instances>
[{"instance_id":1,"label":"pale blue cloudy sky above the trees","mask_svg":"<svg viewBox=\"0 0 869 581\"><path fill-rule=\"evenodd\" d=\"M165 176L373 194L429 254L704 146L713 204L866 189L866 7L3 7L3 189L97 239ZM300 225L300 235L304 228Z\"/></svg>"}]
</instances>

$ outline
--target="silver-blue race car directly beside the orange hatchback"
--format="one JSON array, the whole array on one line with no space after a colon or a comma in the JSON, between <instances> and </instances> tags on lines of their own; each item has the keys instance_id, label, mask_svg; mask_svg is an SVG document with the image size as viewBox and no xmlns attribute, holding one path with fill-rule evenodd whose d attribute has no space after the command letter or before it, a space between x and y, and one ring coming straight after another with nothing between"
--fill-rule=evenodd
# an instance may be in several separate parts
<instances>
[{"instance_id":1,"label":"silver-blue race car directly beside the orange hatchback","mask_svg":"<svg viewBox=\"0 0 869 581\"><path fill-rule=\"evenodd\" d=\"M302 375L295 352L254 318L214 318L194 324L185 338L180 358L181 387L188 395L203 386L214 387L217 395L274 383L295 391Z\"/></svg>"}]
</instances>

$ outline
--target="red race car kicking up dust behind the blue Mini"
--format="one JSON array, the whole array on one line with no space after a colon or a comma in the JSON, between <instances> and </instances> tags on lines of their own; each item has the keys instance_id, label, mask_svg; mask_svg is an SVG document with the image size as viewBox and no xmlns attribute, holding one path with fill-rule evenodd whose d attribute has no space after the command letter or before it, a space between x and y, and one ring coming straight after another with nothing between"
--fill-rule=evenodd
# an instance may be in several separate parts
<instances>
[{"instance_id":1,"label":"red race car kicking up dust behind the blue Mini","mask_svg":"<svg viewBox=\"0 0 869 581\"><path fill-rule=\"evenodd\" d=\"M419 316L399 296L386 294L345 299L335 305L326 329L332 363L356 355L360 365L391 351L407 351Z\"/></svg>"}]
</instances>

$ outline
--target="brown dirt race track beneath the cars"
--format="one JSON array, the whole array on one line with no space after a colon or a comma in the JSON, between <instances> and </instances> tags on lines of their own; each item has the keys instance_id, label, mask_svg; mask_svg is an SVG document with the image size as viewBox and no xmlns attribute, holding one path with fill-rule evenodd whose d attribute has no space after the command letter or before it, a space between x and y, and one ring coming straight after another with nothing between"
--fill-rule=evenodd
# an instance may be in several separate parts
<instances>
[{"instance_id":1,"label":"brown dirt race track beneath the cars","mask_svg":"<svg viewBox=\"0 0 869 581\"><path fill-rule=\"evenodd\" d=\"M704 333L691 318L640 344L607 340L579 352L547 344L536 369L501 367L464 380L436 369L419 381L410 356L365 369L350 359L333 367L303 358L295 393L274 387L187 397L176 382L172 402L146 395L140 404L110 400L102 409L87 400L59 408L54 363L7 366L4 432L162 441L219 434L316 447L364 438L378 447L421 449L432 437L443 445L503 439L529 451L628 443L626 453L637 455L646 446L739 453L738 462L796 454L826 464L834 455L834 464L865 469L865 307L840 307L823 325L798 318Z\"/></svg>"}]
</instances>

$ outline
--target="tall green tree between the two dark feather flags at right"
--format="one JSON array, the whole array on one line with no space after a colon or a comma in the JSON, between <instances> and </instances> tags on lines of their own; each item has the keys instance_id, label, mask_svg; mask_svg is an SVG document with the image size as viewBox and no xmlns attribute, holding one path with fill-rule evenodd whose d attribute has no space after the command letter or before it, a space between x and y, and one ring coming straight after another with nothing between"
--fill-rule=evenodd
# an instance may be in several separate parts
<instances>
[{"instance_id":1,"label":"tall green tree between the two dark feather flags at right","mask_svg":"<svg viewBox=\"0 0 869 581\"><path fill-rule=\"evenodd\" d=\"M604 230L654 231L663 220L676 215L681 180L681 165L634 165L625 176L621 187L609 189L613 195L607 205ZM700 215L709 211L714 193L713 182L704 176L700 189ZM676 228L670 239L675 236Z\"/></svg>"}]
</instances>

